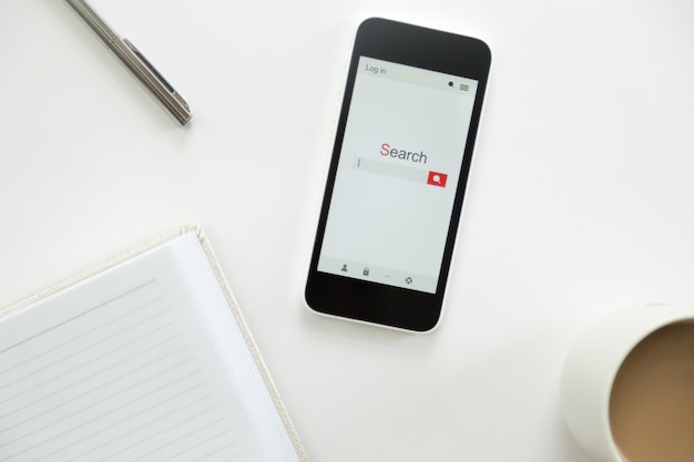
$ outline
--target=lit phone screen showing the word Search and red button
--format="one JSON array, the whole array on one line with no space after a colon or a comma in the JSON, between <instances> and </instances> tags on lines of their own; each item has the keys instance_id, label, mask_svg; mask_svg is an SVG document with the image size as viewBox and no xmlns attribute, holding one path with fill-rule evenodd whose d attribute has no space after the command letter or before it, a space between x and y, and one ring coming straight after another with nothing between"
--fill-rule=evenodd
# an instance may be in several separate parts
<instances>
[{"instance_id":1,"label":"lit phone screen showing the word Search and red button","mask_svg":"<svg viewBox=\"0 0 694 462\"><path fill-rule=\"evenodd\" d=\"M318 271L437 291L477 91L359 57Z\"/></svg>"}]
</instances>

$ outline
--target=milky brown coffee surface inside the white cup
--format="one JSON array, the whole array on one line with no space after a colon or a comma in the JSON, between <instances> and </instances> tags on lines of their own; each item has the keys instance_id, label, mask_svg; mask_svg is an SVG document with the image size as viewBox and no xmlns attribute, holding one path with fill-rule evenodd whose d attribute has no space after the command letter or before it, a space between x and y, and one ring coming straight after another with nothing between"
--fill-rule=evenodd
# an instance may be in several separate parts
<instances>
[{"instance_id":1,"label":"milky brown coffee surface inside the white cup","mask_svg":"<svg viewBox=\"0 0 694 462\"><path fill-rule=\"evenodd\" d=\"M649 335L610 394L610 428L629 462L694 461L694 321Z\"/></svg>"}]
</instances>

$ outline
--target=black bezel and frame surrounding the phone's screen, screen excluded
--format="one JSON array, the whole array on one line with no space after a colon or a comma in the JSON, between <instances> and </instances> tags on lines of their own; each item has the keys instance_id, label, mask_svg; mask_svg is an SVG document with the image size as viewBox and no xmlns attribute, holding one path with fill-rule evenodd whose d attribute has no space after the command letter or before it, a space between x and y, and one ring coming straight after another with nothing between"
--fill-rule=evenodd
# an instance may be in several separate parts
<instances>
[{"instance_id":1,"label":"black bezel and frame surrounding the phone's screen, screen excluded","mask_svg":"<svg viewBox=\"0 0 694 462\"><path fill-rule=\"evenodd\" d=\"M456 191L456 199L451 211L451 219L435 294L353 279L317 270L337 165L345 136L347 115L356 81L357 65L361 55L478 81L478 92L466 142L460 179ZM345 85L345 94L304 294L306 305L310 309L324 315L412 331L427 331L437 326L441 315L450 263L458 234L490 63L491 52L487 44L478 39L381 18L367 19L359 25Z\"/></svg>"}]
</instances>

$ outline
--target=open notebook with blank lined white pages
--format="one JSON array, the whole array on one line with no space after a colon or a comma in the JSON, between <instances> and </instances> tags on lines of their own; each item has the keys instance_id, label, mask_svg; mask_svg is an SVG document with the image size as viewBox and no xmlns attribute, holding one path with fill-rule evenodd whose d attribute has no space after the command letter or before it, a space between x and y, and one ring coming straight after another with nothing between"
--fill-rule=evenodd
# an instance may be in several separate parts
<instances>
[{"instance_id":1,"label":"open notebook with blank lined white pages","mask_svg":"<svg viewBox=\"0 0 694 462\"><path fill-rule=\"evenodd\" d=\"M186 226L0 311L0 461L307 461Z\"/></svg>"}]
</instances>

